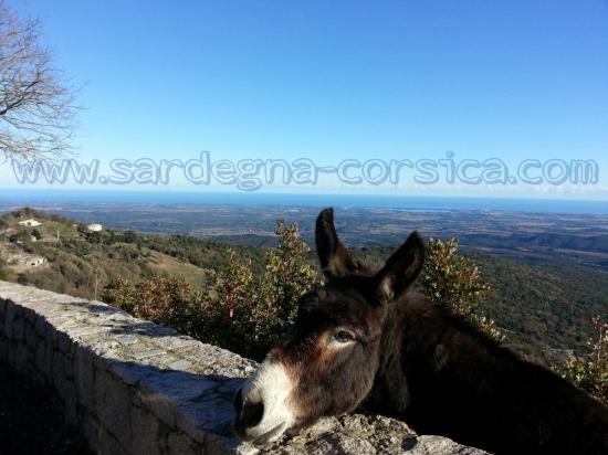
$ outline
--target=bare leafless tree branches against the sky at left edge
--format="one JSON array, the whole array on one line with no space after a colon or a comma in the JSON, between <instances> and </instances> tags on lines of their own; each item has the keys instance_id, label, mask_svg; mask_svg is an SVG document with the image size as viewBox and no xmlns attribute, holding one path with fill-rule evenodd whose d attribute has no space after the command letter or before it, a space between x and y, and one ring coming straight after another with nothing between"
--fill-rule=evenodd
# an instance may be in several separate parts
<instances>
[{"instance_id":1,"label":"bare leafless tree branches against the sky at left edge","mask_svg":"<svg viewBox=\"0 0 608 455\"><path fill-rule=\"evenodd\" d=\"M0 0L0 151L23 160L71 150L74 89L40 43L40 22Z\"/></svg>"}]
</instances>

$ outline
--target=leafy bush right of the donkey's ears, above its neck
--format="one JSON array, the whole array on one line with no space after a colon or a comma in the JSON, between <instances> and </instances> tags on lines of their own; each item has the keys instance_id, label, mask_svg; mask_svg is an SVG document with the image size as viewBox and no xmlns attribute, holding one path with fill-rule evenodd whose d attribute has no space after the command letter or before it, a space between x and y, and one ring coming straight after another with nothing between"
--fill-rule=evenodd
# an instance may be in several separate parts
<instances>
[{"instance_id":1,"label":"leafy bush right of the donkey's ears, above its neck","mask_svg":"<svg viewBox=\"0 0 608 455\"><path fill-rule=\"evenodd\" d=\"M504 335L495 327L494 321L480 314L480 307L488 301L492 289L480 279L478 266L471 257L458 251L458 239L431 239L428 242L418 287L492 339L504 340Z\"/></svg>"}]
</instances>

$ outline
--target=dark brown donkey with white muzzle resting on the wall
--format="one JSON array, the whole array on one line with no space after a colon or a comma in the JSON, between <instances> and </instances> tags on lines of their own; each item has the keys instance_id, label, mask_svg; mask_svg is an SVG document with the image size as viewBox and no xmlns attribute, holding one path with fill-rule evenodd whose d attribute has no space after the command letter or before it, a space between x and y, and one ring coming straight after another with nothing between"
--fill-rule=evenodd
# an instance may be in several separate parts
<instances>
[{"instance_id":1,"label":"dark brown donkey with white muzzle resting on the wall","mask_svg":"<svg viewBox=\"0 0 608 455\"><path fill-rule=\"evenodd\" d=\"M316 222L327 284L239 389L237 434L254 444L366 410L495 454L608 454L608 409L521 360L412 290L424 260L413 232L373 272L339 242L332 209Z\"/></svg>"}]
</instances>

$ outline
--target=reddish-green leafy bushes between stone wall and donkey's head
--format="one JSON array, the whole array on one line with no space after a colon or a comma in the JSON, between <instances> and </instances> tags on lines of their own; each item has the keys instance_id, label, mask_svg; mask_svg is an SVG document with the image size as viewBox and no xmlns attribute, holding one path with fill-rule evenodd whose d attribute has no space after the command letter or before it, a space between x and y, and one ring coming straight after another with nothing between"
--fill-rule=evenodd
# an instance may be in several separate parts
<instances>
[{"instance_id":1,"label":"reddish-green leafy bushes between stone wall and donkey's head","mask_svg":"<svg viewBox=\"0 0 608 455\"><path fill-rule=\"evenodd\" d=\"M264 257L264 272L235 251L217 272L210 273L206 293L196 293L179 278L150 277L133 285L115 279L103 299L134 315L166 324L206 342L220 345L260 359L289 327L302 295L319 284L306 262L308 251L297 225L276 224L281 242Z\"/></svg>"}]
</instances>

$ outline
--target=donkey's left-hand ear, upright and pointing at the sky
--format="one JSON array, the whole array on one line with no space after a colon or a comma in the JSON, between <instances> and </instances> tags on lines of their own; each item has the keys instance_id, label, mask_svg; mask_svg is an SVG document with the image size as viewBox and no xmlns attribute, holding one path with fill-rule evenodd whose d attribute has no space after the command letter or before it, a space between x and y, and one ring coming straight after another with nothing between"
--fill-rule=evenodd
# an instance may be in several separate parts
<instances>
[{"instance_id":1,"label":"donkey's left-hand ear, upright and pointing at the sky","mask_svg":"<svg viewBox=\"0 0 608 455\"><path fill-rule=\"evenodd\" d=\"M315 241L321 268L327 278L348 275L357 269L348 250L338 240L333 209L325 209L318 214Z\"/></svg>"}]
</instances>

